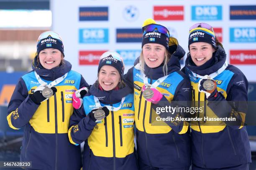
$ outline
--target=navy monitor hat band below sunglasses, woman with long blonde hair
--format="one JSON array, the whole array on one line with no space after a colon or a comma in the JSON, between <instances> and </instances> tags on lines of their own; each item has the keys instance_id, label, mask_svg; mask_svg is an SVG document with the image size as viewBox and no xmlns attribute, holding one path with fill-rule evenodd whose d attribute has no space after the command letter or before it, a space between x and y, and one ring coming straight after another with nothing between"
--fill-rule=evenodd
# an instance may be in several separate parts
<instances>
[{"instance_id":1,"label":"navy monitor hat band below sunglasses, woman with long blonde hair","mask_svg":"<svg viewBox=\"0 0 256 170\"><path fill-rule=\"evenodd\" d=\"M147 43L164 45L164 47L166 47L166 49L169 51L169 38L165 34L158 32L157 30L146 32L143 35L141 47L143 47L143 45Z\"/></svg>"}]
</instances>

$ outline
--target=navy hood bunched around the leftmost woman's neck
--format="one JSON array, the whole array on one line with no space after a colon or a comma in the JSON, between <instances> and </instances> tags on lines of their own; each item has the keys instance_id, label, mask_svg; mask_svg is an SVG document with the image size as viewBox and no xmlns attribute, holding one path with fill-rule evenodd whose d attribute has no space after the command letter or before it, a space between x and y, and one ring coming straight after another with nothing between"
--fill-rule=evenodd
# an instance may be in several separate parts
<instances>
[{"instance_id":1,"label":"navy hood bunched around the leftmost woman's neck","mask_svg":"<svg viewBox=\"0 0 256 170\"><path fill-rule=\"evenodd\" d=\"M65 75L72 68L71 63L68 62L67 60L64 60L64 63L61 64L59 67L54 67L52 69L45 69L40 63L39 65L37 65L37 62L36 62L37 57L38 55L36 55L36 57L34 58L31 67L32 67L32 70L35 70L36 73L40 77L42 77L44 80L49 80L49 81L56 80L57 78Z\"/></svg>"}]
</instances>

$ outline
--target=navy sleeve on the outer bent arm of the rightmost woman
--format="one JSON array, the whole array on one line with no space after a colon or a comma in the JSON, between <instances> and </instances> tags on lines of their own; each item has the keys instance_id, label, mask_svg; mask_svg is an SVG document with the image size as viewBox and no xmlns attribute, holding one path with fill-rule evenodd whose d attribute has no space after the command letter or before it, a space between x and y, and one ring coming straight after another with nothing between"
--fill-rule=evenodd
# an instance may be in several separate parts
<instances>
[{"instance_id":1,"label":"navy sleeve on the outer bent arm of the rightmost woman","mask_svg":"<svg viewBox=\"0 0 256 170\"><path fill-rule=\"evenodd\" d=\"M247 112L248 81L242 73L234 74L228 84L227 98L218 92L214 100L208 98L207 106L218 117L234 117L236 121L224 121L233 129L243 128ZM225 108L225 109L223 109Z\"/></svg>"}]
</instances>

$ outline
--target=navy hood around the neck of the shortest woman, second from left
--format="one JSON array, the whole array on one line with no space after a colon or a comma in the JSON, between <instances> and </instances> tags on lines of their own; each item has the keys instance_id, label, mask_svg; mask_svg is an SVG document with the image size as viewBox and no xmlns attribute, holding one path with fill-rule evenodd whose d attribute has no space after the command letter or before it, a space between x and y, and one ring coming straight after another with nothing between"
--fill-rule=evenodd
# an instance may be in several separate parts
<instances>
[{"instance_id":1,"label":"navy hood around the neck of the shortest woman, second from left","mask_svg":"<svg viewBox=\"0 0 256 170\"><path fill-rule=\"evenodd\" d=\"M133 92L131 88L129 88L127 85L124 87L118 89L118 90L100 90L97 87L97 83L95 82L89 90L91 95L94 95L97 97L100 102L105 104L115 104L122 100L123 97L127 96L129 93Z\"/></svg>"}]
</instances>

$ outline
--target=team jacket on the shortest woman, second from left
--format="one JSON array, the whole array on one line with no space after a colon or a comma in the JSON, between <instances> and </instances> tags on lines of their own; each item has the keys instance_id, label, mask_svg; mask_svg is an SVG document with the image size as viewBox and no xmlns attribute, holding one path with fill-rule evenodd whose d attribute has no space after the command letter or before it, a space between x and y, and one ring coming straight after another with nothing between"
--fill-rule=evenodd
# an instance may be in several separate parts
<instances>
[{"instance_id":1,"label":"team jacket on the shortest woman, second from left","mask_svg":"<svg viewBox=\"0 0 256 170\"><path fill-rule=\"evenodd\" d=\"M90 93L83 98L83 107L74 110L70 118L69 140L74 145L87 140L84 145L83 169L137 170L131 92L128 87L103 91L94 84L90 87ZM96 123L88 115L95 108L94 96L99 99L102 107L119 107L122 97L125 100L118 111L110 111L107 117Z\"/></svg>"}]
</instances>

